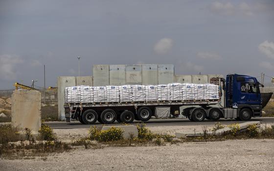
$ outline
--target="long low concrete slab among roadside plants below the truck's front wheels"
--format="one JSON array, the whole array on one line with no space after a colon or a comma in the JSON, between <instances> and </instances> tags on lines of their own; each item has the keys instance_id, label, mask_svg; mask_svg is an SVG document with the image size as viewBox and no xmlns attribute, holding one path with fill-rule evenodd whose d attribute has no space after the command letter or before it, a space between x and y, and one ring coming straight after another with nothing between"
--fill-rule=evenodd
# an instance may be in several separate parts
<instances>
[{"instance_id":1,"label":"long low concrete slab among roadside plants below the truck's front wheels","mask_svg":"<svg viewBox=\"0 0 274 171\"><path fill-rule=\"evenodd\" d=\"M246 131L248 126L251 125L251 124L256 124L257 127L260 127L260 124L261 122L259 121L252 121L252 122L244 122L244 123L240 123L239 126L240 126L240 132L242 131ZM225 132L228 132L229 130L231 130L229 127L225 127L223 129L219 129L217 130L216 132L213 132L213 131L208 131L207 134L208 135L221 135ZM203 132L196 132L195 134L189 134L189 133L184 133L184 132L176 132L175 135L176 135L176 138L186 138L186 137L199 137L201 135L203 135L204 133Z\"/></svg>"}]
</instances>

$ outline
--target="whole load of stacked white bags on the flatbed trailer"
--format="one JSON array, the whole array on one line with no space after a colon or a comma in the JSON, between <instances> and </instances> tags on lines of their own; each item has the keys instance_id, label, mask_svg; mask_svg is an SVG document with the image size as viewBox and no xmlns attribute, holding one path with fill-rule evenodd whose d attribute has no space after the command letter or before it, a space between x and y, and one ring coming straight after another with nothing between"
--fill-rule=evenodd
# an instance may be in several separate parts
<instances>
[{"instance_id":1,"label":"whole load of stacked white bags on the flatbed trailer","mask_svg":"<svg viewBox=\"0 0 274 171\"><path fill-rule=\"evenodd\" d=\"M66 87L66 103L180 101L219 99L215 84L170 83L160 85Z\"/></svg>"}]
</instances>

